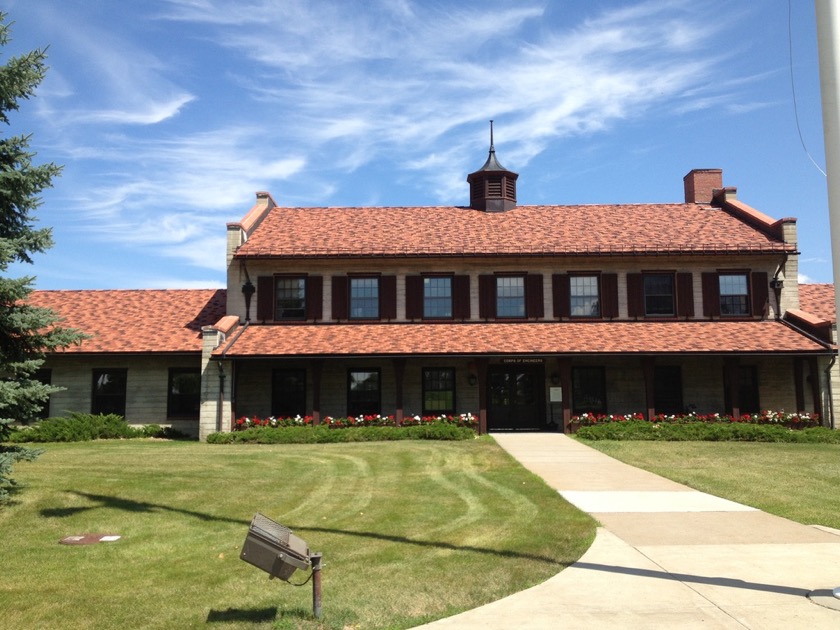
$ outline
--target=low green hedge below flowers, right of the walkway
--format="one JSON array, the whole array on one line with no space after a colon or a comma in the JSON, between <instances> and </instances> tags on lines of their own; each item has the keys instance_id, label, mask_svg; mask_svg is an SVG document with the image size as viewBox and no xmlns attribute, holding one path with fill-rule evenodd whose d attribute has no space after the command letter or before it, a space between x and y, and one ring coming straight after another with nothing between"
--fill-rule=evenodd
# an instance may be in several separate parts
<instances>
[{"instance_id":1,"label":"low green hedge below flowers, right of the walkway","mask_svg":"<svg viewBox=\"0 0 840 630\"><path fill-rule=\"evenodd\" d=\"M675 424L630 420L607 422L578 429L585 440L656 440L705 442L821 442L840 444L840 431L825 427L790 429L778 425L706 423Z\"/></svg>"}]
</instances>

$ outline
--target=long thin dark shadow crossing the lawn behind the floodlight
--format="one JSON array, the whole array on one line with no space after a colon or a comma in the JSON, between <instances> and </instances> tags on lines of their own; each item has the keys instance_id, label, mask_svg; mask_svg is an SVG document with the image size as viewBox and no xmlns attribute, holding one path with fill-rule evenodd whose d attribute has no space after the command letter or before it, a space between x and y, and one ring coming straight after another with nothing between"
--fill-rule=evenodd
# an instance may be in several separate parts
<instances>
[{"instance_id":1,"label":"long thin dark shadow crossing the lawn behind the floodlight","mask_svg":"<svg viewBox=\"0 0 840 630\"><path fill-rule=\"evenodd\" d=\"M248 527L251 525L251 521L246 521L242 519L236 518L229 518L227 516L215 516L213 514L207 514L205 512L196 512L195 510L184 510L181 508L174 508L168 505L161 505L160 503L148 503L146 501L133 501L131 499L123 499L120 497L113 497L108 495L102 494L90 494L87 492L76 492L74 490L66 490L70 494L75 494L76 496L85 497L91 501L95 501L98 505L84 505L79 507L68 507L68 508L45 508L41 510L41 516L51 517L51 518L64 518L68 516L73 516L74 514L80 514L82 512L86 512L89 510L96 510L99 508L110 508L115 510L124 510L126 512L137 512L137 513L156 513L156 512L174 512L176 514L184 514L186 516L191 516L193 518L197 518L202 521L213 521L213 522L221 522L221 523L233 523L236 525L243 525ZM300 532L316 532L316 533L326 533L326 534L339 534L342 536L358 536L359 538L373 538L376 540L385 540L388 542L403 544L403 545L413 545L416 547L434 547L437 549L447 549L450 551L468 551L472 553L481 553L481 554L491 554L494 556L499 556L502 558L522 558L525 560L534 560L536 562L544 562L546 564L555 565L560 568L565 568L569 566L570 563L567 562L558 562L554 558L549 558L546 556L537 556L528 553L520 553L518 551L508 551L504 549L494 549L494 548L487 548L487 547L472 547L469 545L453 545L451 543L445 542L436 542L431 540L413 540L410 538L405 538L403 536L390 536L387 534L380 534L378 532L365 532L365 531L353 531L348 529L335 529L335 528L328 528L328 527L305 527L300 526L297 527L295 525L288 525L284 523L286 527L289 529Z\"/></svg>"}]
</instances>

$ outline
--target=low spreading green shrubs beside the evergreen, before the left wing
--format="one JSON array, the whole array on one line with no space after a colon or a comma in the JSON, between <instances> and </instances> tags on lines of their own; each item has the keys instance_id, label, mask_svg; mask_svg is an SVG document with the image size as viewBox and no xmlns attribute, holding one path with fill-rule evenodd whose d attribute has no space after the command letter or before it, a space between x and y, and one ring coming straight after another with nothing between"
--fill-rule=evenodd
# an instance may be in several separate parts
<instances>
[{"instance_id":1,"label":"low spreading green shrubs beside the evergreen, before the left wing","mask_svg":"<svg viewBox=\"0 0 840 630\"><path fill-rule=\"evenodd\" d=\"M47 418L30 427L21 427L9 435L9 442L86 442L90 440L129 438L181 438L178 431L158 424L132 427L117 414L71 413L66 417Z\"/></svg>"}]
</instances>

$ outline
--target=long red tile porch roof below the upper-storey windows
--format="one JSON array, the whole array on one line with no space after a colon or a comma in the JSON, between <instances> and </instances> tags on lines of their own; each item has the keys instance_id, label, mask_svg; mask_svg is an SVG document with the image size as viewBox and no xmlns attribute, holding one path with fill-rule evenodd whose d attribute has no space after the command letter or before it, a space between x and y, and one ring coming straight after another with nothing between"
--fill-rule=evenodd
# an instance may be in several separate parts
<instances>
[{"instance_id":1,"label":"long red tile porch roof below the upper-storey windows","mask_svg":"<svg viewBox=\"0 0 840 630\"><path fill-rule=\"evenodd\" d=\"M778 322L249 326L214 354L246 356L827 352Z\"/></svg>"}]
</instances>

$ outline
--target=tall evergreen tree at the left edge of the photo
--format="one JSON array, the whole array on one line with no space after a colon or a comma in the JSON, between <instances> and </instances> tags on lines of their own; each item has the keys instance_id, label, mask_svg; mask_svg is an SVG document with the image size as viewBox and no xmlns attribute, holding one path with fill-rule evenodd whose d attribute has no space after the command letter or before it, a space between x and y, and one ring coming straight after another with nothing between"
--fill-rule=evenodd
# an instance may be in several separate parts
<instances>
[{"instance_id":1,"label":"tall evergreen tree at the left edge of the photo","mask_svg":"<svg viewBox=\"0 0 840 630\"><path fill-rule=\"evenodd\" d=\"M0 47L9 39L6 19L7 14L0 12ZM0 65L0 122L10 124L9 113L34 95L46 70L46 51L40 49ZM84 338L79 331L62 328L49 309L26 303L33 277L6 276L11 264L32 263L32 254L52 246L51 230L36 229L32 213L41 204L39 194L52 185L61 168L52 163L34 165L30 137L0 137L0 442L8 437L13 422L36 419L50 393L57 391L36 378L45 353ZM12 464L35 456L37 451L0 444L0 501L14 484Z\"/></svg>"}]
</instances>

